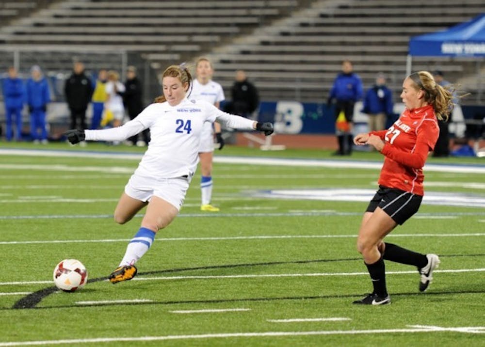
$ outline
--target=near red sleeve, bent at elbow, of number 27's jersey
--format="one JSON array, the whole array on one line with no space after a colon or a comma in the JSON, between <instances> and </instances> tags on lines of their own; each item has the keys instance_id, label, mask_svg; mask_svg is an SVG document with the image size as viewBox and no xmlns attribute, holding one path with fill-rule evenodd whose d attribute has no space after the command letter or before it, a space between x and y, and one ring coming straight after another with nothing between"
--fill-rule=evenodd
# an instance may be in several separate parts
<instances>
[{"instance_id":1,"label":"near red sleeve, bent at elbow, of number 27's jersey","mask_svg":"<svg viewBox=\"0 0 485 347\"><path fill-rule=\"evenodd\" d=\"M438 135L439 128L436 122L424 121L423 125L417 129L416 145L410 153L396 148L388 142L384 144L381 153L400 164L413 169L421 169L428 157L428 152L435 148Z\"/></svg>"}]
</instances>

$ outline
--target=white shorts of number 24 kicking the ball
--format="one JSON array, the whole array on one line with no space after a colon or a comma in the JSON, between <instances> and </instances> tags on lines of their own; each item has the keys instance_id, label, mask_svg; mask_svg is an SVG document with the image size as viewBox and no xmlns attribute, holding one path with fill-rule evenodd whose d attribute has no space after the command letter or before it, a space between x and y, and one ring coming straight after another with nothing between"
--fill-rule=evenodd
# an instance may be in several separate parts
<instances>
[{"instance_id":1,"label":"white shorts of number 24 kicking the ball","mask_svg":"<svg viewBox=\"0 0 485 347\"><path fill-rule=\"evenodd\" d=\"M136 200L150 201L156 196L174 205L179 211L189 189L190 177L150 178L131 175L125 186L125 193Z\"/></svg>"}]
</instances>

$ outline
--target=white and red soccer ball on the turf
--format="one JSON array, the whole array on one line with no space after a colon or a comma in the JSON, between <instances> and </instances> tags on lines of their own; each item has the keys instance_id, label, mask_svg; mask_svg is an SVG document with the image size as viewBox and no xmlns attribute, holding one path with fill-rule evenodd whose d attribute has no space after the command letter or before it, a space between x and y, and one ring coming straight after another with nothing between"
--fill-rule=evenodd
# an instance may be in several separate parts
<instances>
[{"instance_id":1,"label":"white and red soccer ball on the turf","mask_svg":"<svg viewBox=\"0 0 485 347\"><path fill-rule=\"evenodd\" d=\"M54 268L54 284L65 292L82 288L88 281L88 272L79 260L64 259Z\"/></svg>"}]
</instances>

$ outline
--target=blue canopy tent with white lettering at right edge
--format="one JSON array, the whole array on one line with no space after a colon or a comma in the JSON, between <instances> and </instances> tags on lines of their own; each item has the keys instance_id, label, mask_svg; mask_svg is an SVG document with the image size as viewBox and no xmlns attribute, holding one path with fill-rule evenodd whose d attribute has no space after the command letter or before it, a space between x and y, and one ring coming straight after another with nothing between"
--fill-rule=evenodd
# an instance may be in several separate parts
<instances>
[{"instance_id":1,"label":"blue canopy tent with white lettering at right edge","mask_svg":"<svg viewBox=\"0 0 485 347\"><path fill-rule=\"evenodd\" d=\"M413 56L485 57L485 13L447 30L411 37L406 75Z\"/></svg>"}]
</instances>

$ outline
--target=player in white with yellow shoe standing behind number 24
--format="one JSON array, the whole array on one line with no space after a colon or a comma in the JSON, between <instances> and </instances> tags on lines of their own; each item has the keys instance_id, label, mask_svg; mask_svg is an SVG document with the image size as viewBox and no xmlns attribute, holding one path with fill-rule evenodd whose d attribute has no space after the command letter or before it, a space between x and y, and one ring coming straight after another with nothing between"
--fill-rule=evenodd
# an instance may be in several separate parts
<instances>
[{"instance_id":1,"label":"player in white with yellow shoe standing behind number 24","mask_svg":"<svg viewBox=\"0 0 485 347\"><path fill-rule=\"evenodd\" d=\"M222 86L211 80L214 70L212 64L207 58L199 58L195 64L196 79L192 84L192 92L189 98L195 100L205 100L210 102L215 107L219 108L221 101L224 100L224 91ZM212 131L212 126L213 130ZM200 136L199 159L200 159L200 190L202 196L201 211L217 212L218 207L210 205L212 198L212 158L214 152L214 137L215 132L219 149L224 147L224 139L221 134L221 125L217 122L204 123L202 133Z\"/></svg>"}]
</instances>

